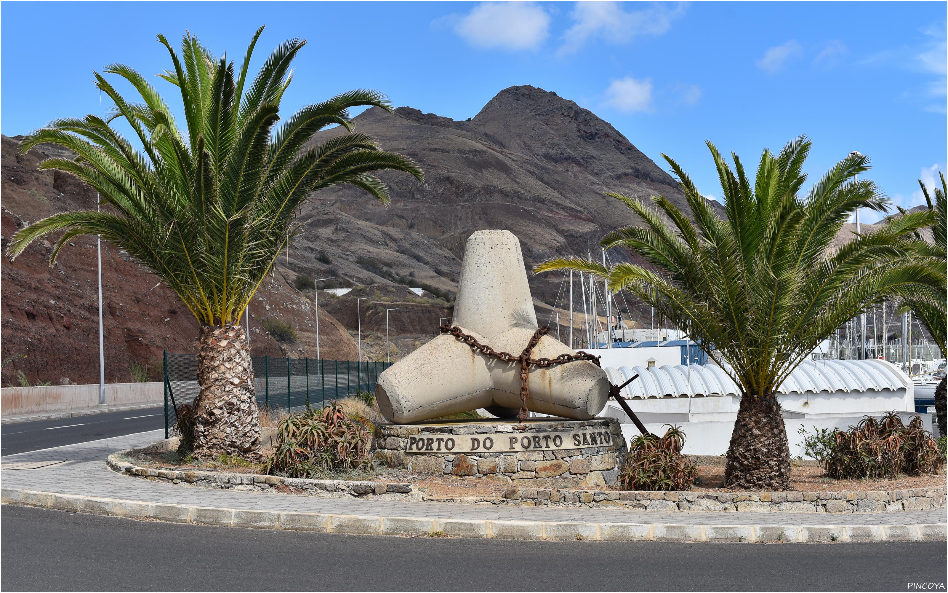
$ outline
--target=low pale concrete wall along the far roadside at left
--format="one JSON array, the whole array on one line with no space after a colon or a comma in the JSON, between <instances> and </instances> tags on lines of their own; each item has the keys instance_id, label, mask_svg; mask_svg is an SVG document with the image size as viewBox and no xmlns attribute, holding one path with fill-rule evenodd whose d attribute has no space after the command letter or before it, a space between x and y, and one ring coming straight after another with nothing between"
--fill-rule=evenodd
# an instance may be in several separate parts
<instances>
[{"instance_id":1,"label":"low pale concrete wall along the far roadside at left","mask_svg":"<svg viewBox=\"0 0 948 593\"><path fill-rule=\"evenodd\" d=\"M159 404L164 401L161 381L150 383L108 383L105 405ZM4 416L68 412L94 408L100 403L99 384L4 387L0 390L0 413Z\"/></svg>"}]
</instances>

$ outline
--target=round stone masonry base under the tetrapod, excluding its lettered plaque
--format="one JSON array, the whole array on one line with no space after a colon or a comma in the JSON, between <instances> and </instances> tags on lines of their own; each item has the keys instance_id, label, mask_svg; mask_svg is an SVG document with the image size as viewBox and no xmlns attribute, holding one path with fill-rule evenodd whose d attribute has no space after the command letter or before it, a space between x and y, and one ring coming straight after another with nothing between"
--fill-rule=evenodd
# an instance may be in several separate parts
<instances>
[{"instance_id":1,"label":"round stone masonry base under the tetrapod, excluding its lettered plaque","mask_svg":"<svg viewBox=\"0 0 948 593\"><path fill-rule=\"evenodd\" d=\"M608 431L611 443L579 449L510 453L406 453L413 436L543 435L568 430ZM383 426L375 431L376 464L416 473L483 478L518 487L577 488L615 484L628 449L615 418L592 420L486 421Z\"/></svg>"}]
</instances>

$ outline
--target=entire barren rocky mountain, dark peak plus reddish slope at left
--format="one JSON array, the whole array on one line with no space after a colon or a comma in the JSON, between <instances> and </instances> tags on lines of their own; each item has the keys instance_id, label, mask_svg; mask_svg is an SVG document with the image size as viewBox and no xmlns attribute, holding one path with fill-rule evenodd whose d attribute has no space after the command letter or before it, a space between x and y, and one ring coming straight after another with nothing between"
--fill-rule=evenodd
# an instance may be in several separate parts
<instances>
[{"instance_id":1,"label":"entire barren rocky mountain, dark peak plus reddish slope at left","mask_svg":"<svg viewBox=\"0 0 948 593\"><path fill-rule=\"evenodd\" d=\"M390 316L396 359L433 336L439 319L450 315L472 232L514 232L532 268L558 255L595 255L605 232L638 222L604 192L665 195L684 208L674 179L609 122L534 86L502 90L466 121L399 107L394 113L369 109L355 123L383 148L415 159L427 178L419 183L408 175L384 174L392 190L387 207L350 187L319 192L302 206L300 236L251 306L254 354L316 356L313 278L332 277L319 287L356 287L339 298L320 293L324 358L355 360L356 299L366 296L363 354L384 360L385 309L398 307ZM326 131L316 141L339 133ZM3 138L4 247L27 221L95 207L95 194L75 178L36 170L55 148L19 155L16 144L16 138ZM4 385L17 382L20 371L29 382L98 380L94 248L94 238L78 239L51 269L46 243L16 262L4 258ZM131 380L133 369L142 367L154 376L163 348L192 350L197 326L188 311L108 245L103 279L108 380ZM543 323L556 319L554 306L561 325L568 319L561 281L561 274L530 276ZM418 297L407 287L427 292ZM578 303L578 285L576 290ZM622 308L632 309L633 316L636 309L647 311L629 303ZM290 324L296 338L277 343L266 334L264 318Z\"/></svg>"}]
</instances>

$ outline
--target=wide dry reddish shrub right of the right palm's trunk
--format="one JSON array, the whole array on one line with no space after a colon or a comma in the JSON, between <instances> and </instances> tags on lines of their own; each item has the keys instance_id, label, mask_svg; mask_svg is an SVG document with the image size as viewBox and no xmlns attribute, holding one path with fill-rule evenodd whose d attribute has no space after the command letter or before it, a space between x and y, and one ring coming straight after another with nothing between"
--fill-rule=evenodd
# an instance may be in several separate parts
<instances>
[{"instance_id":1,"label":"wide dry reddish shrub right of the right palm's trunk","mask_svg":"<svg viewBox=\"0 0 948 593\"><path fill-rule=\"evenodd\" d=\"M889 412L877 420L863 417L848 431L836 433L824 469L836 479L895 478L899 473L937 473L944 463L938 442L921 417L905 426Z\"/></svg>"}]
</instances>

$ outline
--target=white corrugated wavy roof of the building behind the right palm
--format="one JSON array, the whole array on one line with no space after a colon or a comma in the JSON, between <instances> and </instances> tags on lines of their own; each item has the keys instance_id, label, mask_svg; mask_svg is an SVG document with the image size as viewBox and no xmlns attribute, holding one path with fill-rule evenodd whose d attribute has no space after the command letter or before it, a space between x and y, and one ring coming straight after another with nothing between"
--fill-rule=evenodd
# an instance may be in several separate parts
<instances>
[{"instance_id":1,"label":"white corrugated wavy roof of the building behind the right palm","mask_svg":"<svg viewBox=\"0 0 948 593\"><path fill-rule=\"evenodd\" d=\"M740 393L738 385L713 363L650 368L607 366L605 371L616 385L639 375L639 379L622 390L626 398L704 398ZM908 384L908 377L886 361L807 360L793 370L777 391L784 394L897 391Z\"/></svg>"}]
</instances>

